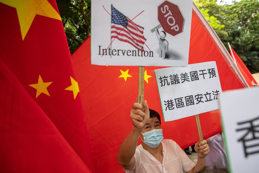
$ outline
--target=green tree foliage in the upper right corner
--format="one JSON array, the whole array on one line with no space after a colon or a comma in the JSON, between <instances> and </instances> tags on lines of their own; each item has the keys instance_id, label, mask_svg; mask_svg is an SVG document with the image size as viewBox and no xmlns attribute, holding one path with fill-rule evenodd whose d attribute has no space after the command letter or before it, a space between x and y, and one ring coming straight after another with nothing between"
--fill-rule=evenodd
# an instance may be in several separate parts
<instances>
[{"instance_id":1,"label":"green tree foliage in the upper right corner","mask_svg":"<svg viewBox=\"0 0 259 173\"><path fill-rule=\"evenodd\" d=\"M259 72L259 2L194 0L220 40L228 49L228 42L244 61L251 73Z\"/></svg>"}]
</instances>

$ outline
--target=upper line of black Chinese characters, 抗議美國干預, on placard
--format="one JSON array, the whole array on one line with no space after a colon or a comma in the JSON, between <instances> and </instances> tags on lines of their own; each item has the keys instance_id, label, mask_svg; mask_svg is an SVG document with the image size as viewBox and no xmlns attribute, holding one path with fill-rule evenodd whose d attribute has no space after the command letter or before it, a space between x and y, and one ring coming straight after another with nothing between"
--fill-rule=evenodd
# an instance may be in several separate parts
<instances>
[{"instance_id":1,"label":"upper line of black Chinese characters, \u6297\u8b70\u7f8e\u570b\u5e72\u9810, on placard","mask_svg":"<svg viewBox=\"0 0 259 173\"><path fill-rule=\"evenodd\" d=\"M206 72L208 72L208 73L206 73ZM164 76L164 77L160 76L159 83L161 84L161 86L165 86L165 85L170 85L170 84L171 85L180 84L180 80L181 80L181 83L183 83L185 81L190 82L190 80L197 81L197 80L199 80L199 75L202 75L201 77L203 77L203 79L205 79L206 75L208 75L209 78L217 77L215 68L211 68L211 69L207 69L207 71L206 70L199 70L199 72L191 71L190 76L186 72L181 73L180 78L179 78L178 74L169 75L170 83L168 81L168 76Z\"/></svg>"}]
</instances>

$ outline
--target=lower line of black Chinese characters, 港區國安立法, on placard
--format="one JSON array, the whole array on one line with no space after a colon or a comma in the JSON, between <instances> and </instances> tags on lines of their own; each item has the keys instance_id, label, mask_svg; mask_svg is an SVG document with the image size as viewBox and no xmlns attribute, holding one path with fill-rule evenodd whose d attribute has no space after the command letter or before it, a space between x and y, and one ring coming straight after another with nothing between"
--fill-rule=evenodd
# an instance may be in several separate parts
<instances>
[{"instance_id":1,"label":"lower line of black Chinese characters, \u6e2f\u5340\u570b\u5b89\u7acb\u6cd5, on placard","mask_svg":"<svg viewBox=\"0 0 259 173\"><path fill-rule=\"evenodd\" d=\"M212 101L212 100L217 100L218 99L218 95L220 95L219 91L212 91L211 92L206 92L206 94L197 94L194 96L193 99L193 95L188 95L185 97L179 97L179 98L175 98L174 100L170 99L170 100L166 100L164 101L164 105L166 106L166 111L168 110L173 110L175 107L176 108L182 108L185 106L190 106L190 105L194 105L194 104L198 104L198 103L204 103L204 102L208 102L208 101ZM174 103L175 101L175 103Z\"/></svg>"}]
</instances>

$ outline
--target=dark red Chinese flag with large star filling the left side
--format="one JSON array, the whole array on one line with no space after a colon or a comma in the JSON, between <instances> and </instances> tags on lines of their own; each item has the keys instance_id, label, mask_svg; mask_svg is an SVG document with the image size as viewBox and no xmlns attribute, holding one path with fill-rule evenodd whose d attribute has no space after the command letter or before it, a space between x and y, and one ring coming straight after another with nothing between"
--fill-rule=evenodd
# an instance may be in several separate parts
<instances>
[{"instance_id":1,"label":"dark red Chinese flag with large star filling the left side","mask_svg":"<svg viewBox=\"0 0 259 173\"><path fill-rule=\"evenodd\" d=\"M0 23L0 172L94 172L55 0L1 0Z\"/></svg>"}]
</instances>

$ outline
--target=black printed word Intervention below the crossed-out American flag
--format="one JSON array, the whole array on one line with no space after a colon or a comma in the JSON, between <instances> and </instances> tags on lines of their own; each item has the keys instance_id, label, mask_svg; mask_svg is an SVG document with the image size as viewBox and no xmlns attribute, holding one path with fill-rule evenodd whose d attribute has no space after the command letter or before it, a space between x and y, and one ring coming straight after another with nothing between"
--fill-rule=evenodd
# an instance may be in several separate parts
<instances>
[{"instance_id":1,"label":"black printed word Intervention below the crossed-out American flag","mask_svg":"<svg viewBox=\"0 0 259 173\"><path fill-rule=\"evenodd\" d=\"M98 55L116 55L116 56L144 56L144 57L154 57L153 51L141 51L141 50L121 50L121 49L101 49L99 47L99 54Z\"/></svg>"}]
</instances>

